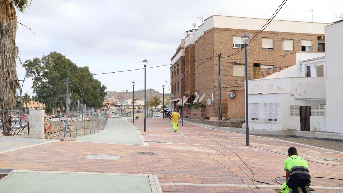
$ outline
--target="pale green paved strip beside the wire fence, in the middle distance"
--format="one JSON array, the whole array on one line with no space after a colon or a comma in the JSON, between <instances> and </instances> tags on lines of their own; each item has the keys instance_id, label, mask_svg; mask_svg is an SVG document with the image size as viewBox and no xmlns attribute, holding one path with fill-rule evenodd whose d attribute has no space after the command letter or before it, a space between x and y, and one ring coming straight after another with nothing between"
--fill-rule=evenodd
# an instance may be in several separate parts
<instances>
[{"instance_id":1,"label":"pale green paved strip beside the wire fence, in the middle distance","mask_svg":"<svg viewBox=\"0 0 343 193\"><path fill-rule=\"evenodd\" d=\"M76 141L143 145L136 129L123 118L109 119L105 129L94 134L76 138Z\"/></svg>"}]
</instances>

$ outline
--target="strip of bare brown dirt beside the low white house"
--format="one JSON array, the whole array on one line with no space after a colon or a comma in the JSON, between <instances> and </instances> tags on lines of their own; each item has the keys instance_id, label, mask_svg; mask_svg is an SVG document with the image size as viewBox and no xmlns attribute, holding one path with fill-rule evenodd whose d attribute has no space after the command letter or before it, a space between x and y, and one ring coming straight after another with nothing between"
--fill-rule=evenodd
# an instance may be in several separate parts
<instances>
[{"instance_id":1,"label":"strip of bare brown dirt beside the low white house","mask_svg":"<svg viewBox=\"0 0 343 193\"><path fill-rule=\"evenodd\" d=\"M320 139L304 139L304 138L295 138L295 137L270 137L275 139L282 139L285 141L291 141L299 144L305 144L315 147L322 147L326 149L336 150L343 152L343 142L339 141L328 141ZM332 160L330 160L332 161Z\"/></svg>"}]
</instances>

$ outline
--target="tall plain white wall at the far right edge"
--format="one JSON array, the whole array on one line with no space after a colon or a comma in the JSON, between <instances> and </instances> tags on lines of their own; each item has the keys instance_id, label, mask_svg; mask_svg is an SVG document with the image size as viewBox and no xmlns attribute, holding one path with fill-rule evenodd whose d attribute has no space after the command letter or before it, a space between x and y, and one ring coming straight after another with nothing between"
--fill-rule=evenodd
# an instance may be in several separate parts
<instances>
[{"instance_id":1,"label":"tall plain white wall at the far right edge","mask_svg":"<svg viewBox=\"0 0 343 193\"><path fill-rule=\"evenodd\" d=\"M326 128L343 133L343 22L325 27Z\"/></svg>"}]
</instances>

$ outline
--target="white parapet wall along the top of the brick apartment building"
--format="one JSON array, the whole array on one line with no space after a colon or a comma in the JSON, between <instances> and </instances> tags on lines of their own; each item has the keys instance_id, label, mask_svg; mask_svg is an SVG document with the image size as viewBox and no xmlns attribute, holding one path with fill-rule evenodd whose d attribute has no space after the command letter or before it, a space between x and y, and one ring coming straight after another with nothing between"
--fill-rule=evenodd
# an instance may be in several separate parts
<instances>
[{"instance_id":1,"label":"white parapet wall along the top of the brick apartment building","mask_svg":"<svg viewBox=\"0 0 343 193\"><path fill-rule=\"evenodd\" d=\"M199 29L195 32L195 40L203 35L204 31L209 30L212 27L260 30L261 26L263 26L267 20L268 19L212 15L210 18L204 20L203 25L199 26ZM326 25L329 25L329 23L273 20L265 28L265 31L324 34L324 26Z\"/></svg>"}]
</instances>

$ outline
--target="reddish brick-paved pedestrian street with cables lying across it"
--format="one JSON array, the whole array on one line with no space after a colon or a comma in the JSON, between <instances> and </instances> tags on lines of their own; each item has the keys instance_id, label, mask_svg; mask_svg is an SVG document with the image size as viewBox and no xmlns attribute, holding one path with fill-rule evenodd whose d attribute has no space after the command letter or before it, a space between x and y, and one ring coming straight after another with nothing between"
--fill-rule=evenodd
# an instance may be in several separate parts
<instances>
[{"instance_id":1,"label":"reddish brick-paved pedestrian street with cables lying across it","mask_svg":"<svg viewBox=\"0 0 343 193\"><path fill-rule=\"evenodd\" d=\"M132 123L131 119L128 121ZM188 123L184 126L180 123L178 133L173 133L169 119L162 118L148 118L147 132L144 132L143 125L143 119L136 120L133 124L145 140L170 143L148 142L149 146L143 146L56 141L4 152L0 154L0 168L156 174L163 192L167 193L275 192L274 189L279 189L279 185L274 179L285 175L283 161L287 157L275 152L286 154L288 147L295 146L300 157L316 161L308 161L312 177L343 176L343 164L338 161L343 159L342 152L260 136L250 136L250 147L247 147L244 145L245 134ZM140 155L136 153L139 151L157 154ZM254 172L254 180L272 185L252 181L252 172L235 153ZM88 154L120 156L120 160L85 159ZM341 180L311 178L311 181L315 192L343 191Z\"/></svg>"}]
</instances>

